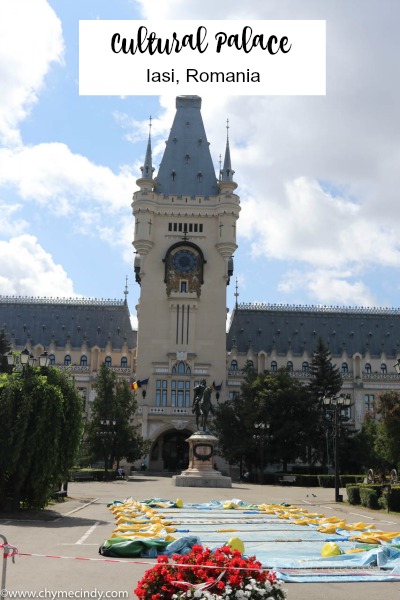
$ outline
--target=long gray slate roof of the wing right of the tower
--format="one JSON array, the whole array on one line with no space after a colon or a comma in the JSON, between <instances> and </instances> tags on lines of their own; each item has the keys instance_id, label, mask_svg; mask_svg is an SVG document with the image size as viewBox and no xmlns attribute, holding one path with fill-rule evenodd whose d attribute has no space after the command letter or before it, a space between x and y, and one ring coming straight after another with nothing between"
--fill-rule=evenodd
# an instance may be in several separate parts
<instances>
[{"instance_id":1,"label":"long gray slate roof of the wing right of the tower","mask_svg":"<svg viewBox=\"0 0 400 600\"><path fill-rule=\"evenodd\" d=\"M290 348L293 355L303 350L312 355L321 337L332 356L346 351L364 356L395 358L400 352L400 310L379 308L341 308L317 306L284 306L239 304L232 314L227 336L227 350L236 343L246 353L251 343L257 354L273 348L284 356Z\"/></svg>"}]
</instances>

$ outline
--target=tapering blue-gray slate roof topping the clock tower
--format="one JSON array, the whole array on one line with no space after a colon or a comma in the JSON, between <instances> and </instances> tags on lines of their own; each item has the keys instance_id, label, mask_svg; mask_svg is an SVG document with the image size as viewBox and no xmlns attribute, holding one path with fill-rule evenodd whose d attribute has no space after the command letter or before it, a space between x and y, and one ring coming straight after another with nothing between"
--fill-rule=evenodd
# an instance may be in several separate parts
<instances>
[{"instance_id":1,"label":"tapering blue-gray slate roof topping the clock tower","mask_svg":"<svg viewBox=\"0 0 400 600\"><path fill-rule=\"evenodd\" d=\"M178 96L176 114L154 191L177 196L214 196L217 178L200 113L199 96Z\"/></svg>"}]
</instances>

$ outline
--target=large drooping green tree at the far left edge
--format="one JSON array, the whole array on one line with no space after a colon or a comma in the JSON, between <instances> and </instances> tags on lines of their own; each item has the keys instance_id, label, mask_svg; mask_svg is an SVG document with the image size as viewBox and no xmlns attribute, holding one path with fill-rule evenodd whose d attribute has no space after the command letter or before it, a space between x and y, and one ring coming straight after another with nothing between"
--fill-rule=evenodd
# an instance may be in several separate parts
<instances>
[{"instance_id":1,"label":"large drooping green tree at the far left edge","mask_svg":"<svg viewBox=\"0 0 400 600\"><path fill-rule=\"evenodd\" d=\"M26 366L0 375L0 508L43 508L68 478L82 435L72 378Z\"/></svg>"}]
</instances>

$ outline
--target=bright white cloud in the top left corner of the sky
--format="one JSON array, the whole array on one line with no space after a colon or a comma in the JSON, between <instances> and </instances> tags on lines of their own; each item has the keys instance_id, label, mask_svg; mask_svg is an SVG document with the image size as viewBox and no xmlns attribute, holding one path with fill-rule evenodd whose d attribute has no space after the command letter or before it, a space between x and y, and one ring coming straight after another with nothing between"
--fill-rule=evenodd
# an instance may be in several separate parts
<instances>
[{"instance_id":1,"label":"bright white cloud in the top left corner of the sky","mask_svg":"<svg viewBox=\"0 0 400 600\"><path fill-rule=\"evenodd\" d=\"M14 145L51 63L63 60L61 23L45 0L2 0L0 40L0 140Z\"/></svg>"}]
</instances>

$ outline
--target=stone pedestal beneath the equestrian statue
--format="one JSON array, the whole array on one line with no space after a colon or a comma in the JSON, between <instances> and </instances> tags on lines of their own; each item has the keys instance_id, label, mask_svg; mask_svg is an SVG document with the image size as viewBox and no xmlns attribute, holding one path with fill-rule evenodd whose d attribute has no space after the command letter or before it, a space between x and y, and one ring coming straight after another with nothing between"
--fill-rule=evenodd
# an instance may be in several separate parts
<instances>
[{"instance_id":1,"label":"stone pedestal beneath the equestrian statue","mask_svg":"<svg viewBox=\"0 0 400 600\"><path fill-rule=\"evenodd\" d=\"M175 475L173 484L180 487L232 487L231 478L215 469L217 438L207 431L196 431L186 441L189 444L189 468Z\"/></svg>"}]
</instances>

